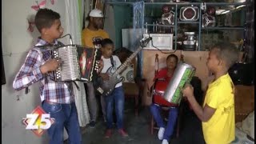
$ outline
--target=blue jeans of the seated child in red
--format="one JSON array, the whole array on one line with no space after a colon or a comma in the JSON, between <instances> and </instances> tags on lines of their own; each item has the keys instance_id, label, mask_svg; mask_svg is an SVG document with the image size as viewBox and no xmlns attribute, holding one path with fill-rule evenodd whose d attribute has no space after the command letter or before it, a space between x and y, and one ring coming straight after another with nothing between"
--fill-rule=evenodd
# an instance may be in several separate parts
<instances>
[{"instance_id":1,"label":"blue jeans of the seated child in red","mask_svg":"<svg viewBox=\"0 0 256 144\"><path fill-rule=\"evenodd\" d=\"M170 107L167 126L162 120L160 114L161 107L152 103L150 106L151 114L153 114L155 122L157 122L158 127L164 127L165 133L163 134L163 139L167 141L170 140L170 136L174 133L174 126L178 118L178 107Z\"/></svg>"}]
</instances>

